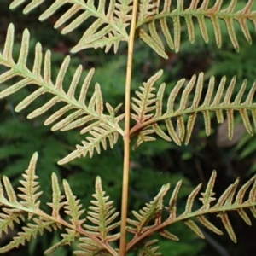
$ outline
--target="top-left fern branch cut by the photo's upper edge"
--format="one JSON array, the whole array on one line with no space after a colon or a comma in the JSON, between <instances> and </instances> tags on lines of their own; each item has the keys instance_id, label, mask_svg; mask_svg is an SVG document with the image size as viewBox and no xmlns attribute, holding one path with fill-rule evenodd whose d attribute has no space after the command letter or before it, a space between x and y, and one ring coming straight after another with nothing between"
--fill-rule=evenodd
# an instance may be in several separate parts
<instances>
[{"instance_id":1,"label":"top-left fern branch cut by the photo's upper edge","mask_svg":"<svg viewBox=\"0 0 256 256\"><path fill-rule=\"evenodd\" d=\"M9 8L14 9L24 2L23 0L13 1ZM26 5L23 13L27 14L43 2L42 0L33 0ZM128 40L126 27L130 25L132 0L99 1L97 6L94 0L71 0L68 2L66 0L57 0L40 15L39 20L42 21L55 15L58 9L61 9L66 3L71 6L55 22L55 28L63 27L61 29L62 34L72 32L87 20L94 19L90 21L91 24L85 30L79 43L71 50L73 53L88 48L105 48L106 52L108 52L112 46L114 52L117 52L119 43Z\"/></svg>"}]
</instances>

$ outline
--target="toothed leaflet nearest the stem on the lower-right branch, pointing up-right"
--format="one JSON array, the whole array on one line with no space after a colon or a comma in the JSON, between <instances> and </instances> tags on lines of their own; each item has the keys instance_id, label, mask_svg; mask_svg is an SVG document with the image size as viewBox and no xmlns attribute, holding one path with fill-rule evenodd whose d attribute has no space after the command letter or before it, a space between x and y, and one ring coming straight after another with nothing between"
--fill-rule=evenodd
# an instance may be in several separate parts
<instances>
[{"instance_id":1,"label":"toothed leaflet nearest the stem on the lower-right branch, pointing up-right","mask_svg":"<svg viewBox=\"0 0 256 256\"><path fill-rule=\"evenodd\" d=\"M143 207L139 212L132 211L132 214L137 218L137 220L127 219L127 222L131 225L136 226L136 228L127 226L127 230L136 233L137 235L143 234L148 228L147 224L155 219L155 224L158 222L158 218L161 216L163 208L163 198L170 188L170 184L163 185L160 189L158 195L154 197L154 201L146 203L146 207Z\"/></svg>"}]
</instances>

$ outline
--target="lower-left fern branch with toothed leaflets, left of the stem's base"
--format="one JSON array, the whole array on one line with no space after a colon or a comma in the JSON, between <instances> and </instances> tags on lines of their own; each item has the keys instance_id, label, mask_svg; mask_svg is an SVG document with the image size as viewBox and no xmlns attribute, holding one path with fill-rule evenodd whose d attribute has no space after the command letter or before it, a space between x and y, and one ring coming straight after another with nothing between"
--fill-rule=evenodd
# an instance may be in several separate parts
<instances>
[{"instance_id":1,"label":"lower-left fern branch with toothed leaflets, left of the stem's base","mask_svg":"<svg viewBox=\"0 0 256 256\"><path fill-rule=\"evenodd\" d=\"M0 183L0 236L2 232L8 232L8 229L14 229L15 223L22 223L22 232L19 232L17 236L10 241L9 244L0 248L0 253L6 253L7 251L24 245L26 241L30 241L32 237L36 238L38 235L43 235L44 230L52 231L65 228L65 232L62 232L62 239L56 243L53 247L50 247L45 251L45 254L52 253L58 247L70 245L73 241L78 240L80 237L81 244L83 244L84 237L88 238L90 243L95 247L100 247L101 252L105 254L98 255L113 255L117 256L118 253L113 249L108 242L119 239L119 234L109 235L108 232L119 226L119 222L112 224L114 218L119 213L114 213L112 208L113 201L108 201L108 197L104 197L100 178L96 179L96 199L98 201L92 201L98 207L90 207L89 219L95 224L98 221L99 226L94 227L92 225L86 225L86 228L90 231L84 230L82 225L85 218L82 218L84 209L81 209L81 204L67 183L63 181L63 187L65 191L66 201L62 201L64 196L61 195L59 183L55 174L52 175L52 202L48 203L52 208L52 214L49 215L39 208L37 201L41 192L38 191L38 183L35 182L37 176L35 175L35 166L38 159L38 154L35 153L32 156L32 160L26 174L23 175L23 180L20 183L23 185L20 190L23 194L15 194L12 184L9 182L8 177L3 177L3 185ZM99 196L99 197L98 197ZM20 197L20 201L18 198ZM60 213L60 210L64 212ZM99 209L99 212L98 212ZM62 215L67 214L68 220L64 220ZM33 216L33 218L31 218ZM103 225L101 225L103 223ZM93 231L91 231L93 230ZM104 239L102 238L104 236ZM104 241L103 241L104 240ZM91 254L90 254L91 255Z\"/></svg>"}]
</instances>

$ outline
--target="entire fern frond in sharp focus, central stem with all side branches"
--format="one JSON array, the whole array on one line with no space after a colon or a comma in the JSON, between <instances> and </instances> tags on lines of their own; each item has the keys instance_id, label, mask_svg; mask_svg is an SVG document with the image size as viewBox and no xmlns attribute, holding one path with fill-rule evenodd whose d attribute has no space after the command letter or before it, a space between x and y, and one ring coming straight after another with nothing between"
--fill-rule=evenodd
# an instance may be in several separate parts
<instances>
[{"instance_id":1,"label":"entire fern frond in sharp focus, central stem with all side branches","mask_svg":"<svg viewBox=\"0 0 256 256\"><path fill-rule=\"evenodd\" d=\"M30 1L24 7L24 14L36 9L43 2L44 0ZM25 0L14 0L9 8L15 9L24 3L26 3ZM166 141L173 141L177 145L187 144L198 113L202 113L207 135L211 133L212 116L216 115L218 123L222 123L225 113L231 139L234 133L235 112L240 114L247 132L253 135L253 125L256 126L256 107L253 102L255 83L246 93L247 81L244 80L241 89L235 93L235 77L226 86L225 77L217 84L214 77L207 82L204 80L204 74L200 73L189 80L177 81L170 93L168 91L169 96L166 99L166 84L160 84L158 89L155 86L163 73L160 70L144 82L143 86L139 87L140 90L136 90L135 96L130 99L131 67L135 39L141 38L155 53L168 58L165 44L176 52L180 49L182 26L187 27L189 41L191 43L195 41L195 20L198 22L201 36L206 43L209 40L207 20L212 22L218 47L222 46L223 29L219 22L224 21L230 41L238 51L239 44L234 21L239 24L245 39L251 44L251 26L248 26L247 21L252 21L255 27L256 12L252 10L254 1L249 0L242 5L236 0L230 0L228 4L217 0L211 5L208 0L192 0L189 6L185 7L183 1L172 3L170 0L56 0L39 16L39 20L58 15L59 10L66 4L66 12L56 20L55 28L61 28L61 32L66 34L80 28L84 22L90 23L71 52L76 53L89 48L102 48L108 52L113 48L116 53L121 42L128 44L125 113L118 113L121 104L113 107L108 102L104 103L100 84L95 84L91 96L87 95L95 72L94 68L87 73L80 87L79 80L83 72L83 67L80 65L73 73L71 82L64 86L70 56L62 62L54 83L51 76L51 53L48 50L43 54L42 45L38 43L35 48L33 66L30 68L26 63L30 38L27 29L23 32L20 55L15 61L13 56L15 27L13 24L9 25L3 51L0 52L0 65L4 67L3 73L0 74L0 84L7 84L11 79L15 80L15 84L10 84L2 90L0 98L33 85L36 89L16 106L15 110L19 112L44 94L50 95L51 97L47 98L43 106L28 114L28 119L36 118L48 112L50 108L59 107L61 103L62 107L50 114L44 121L44 125L53 125L52 131L80 129L80 133L85 134L86 137L82 139L81 145L60 160L59 164L66 164L82 155L85 157L89 154L92 157L95 151L100 154L101 149L106 149L108 143L110 148L113 148L119 137L123 137L124 182L121 221L118 219L119 212L113 208L113 201L108 201L108 196L105 196L100 177L96 178L94 200L91 201L91 206L88 207L89 211L85 216L85 209L73 195L73 190L67 181L64 180L62 183L63 194L58 179L53 174L52 201L48 203L52 212L51 214L44 212L38 201L42 192L39 191L36 181L38 177L35 175L35 166L38 154L35 153L20 180L21 187L18 188L18 194L9 178L5 176L2 178L0 186L1 235L2 232L7 233L9 228L14 229L15 223L22 222L23 231L19 232L8 245L2 247L0 253L6 253L14 247L23 245L26 241L30 241L32 236L43 235L44 230L61 230L61 241L49 247L46 254L52 253L58 247L76 242L78 245L78 249L74 251L76 255L125 256L126 253L137 248L138 255L160 255L158 241L151 239L151 236L158 233L167 239L177 241L178 237L168 230L168 226L177 221L182 221L201 238L204 235L197 223L221 235L222 231L206 218L209 213L220 218L231 240L236 242L235 231L230 224L228 213L238 212L246 224L251 224L251 220L245 209L249 209L256 218L255 176L241 186L241 189L238 189L238 180L236 180L213 204L213 201L216 201L213 192L216 172L212 172L207 189L201 192L199 198L202 206L197 210L193 209L195 198L201 190L200 184L190 193L185 210L181 214L177 213L177 195L182 183L177 183L169 205L165 207L163 200L170 187L168 183L162 186L153 201L147 203L138 212L132 211L135 219L126 218L130 140L131 138L136 140L134 149L144 142L153 141L154 134ZM206 93L204 84L207 84ZM123 119L125 119L125 125L121 123ZM130 119L135 121L132 127ZM168 212L165 219L163 211ZM128 243L126 243L127 232L131 233L131 240ZM119 240L118 249L116 243Z\"/></svg>"}]
</instances>

